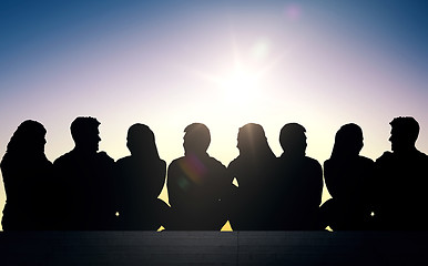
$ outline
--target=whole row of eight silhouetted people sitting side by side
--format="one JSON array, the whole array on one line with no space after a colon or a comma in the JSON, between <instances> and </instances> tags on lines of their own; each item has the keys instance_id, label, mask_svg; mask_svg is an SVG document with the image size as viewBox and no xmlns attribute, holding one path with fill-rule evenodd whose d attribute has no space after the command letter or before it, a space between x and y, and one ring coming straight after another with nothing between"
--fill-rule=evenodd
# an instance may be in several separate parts
<instances>
[{"instance_id":1,"label":"whole row of eight silhouetted people sitting side by side","mask_svg":"<svg viewBox=\"0 0 428 266\"><path fill-rule=\"evenodd\" d=\"M27 120L18 126L1 161L4 231L220 231L227 221L234 231L428 227L428 156L415 146L419 124L409 116L390 122L393 152L376 162L359 155L358 125L337 131L324 163L332 198L323 205L323 167L306 156L300 124L281 130L279 157L259 124L242 126L240 155L226 167L206 152L210 130L193 123L184 130L184 156L167 168L149 126L129 129L131 155L114 162L99 152L99 125L77 117L74 149L53 164L44 155L43 125ZM157 198L166 176L170 205Z\"/></svg>"}]
</instances>

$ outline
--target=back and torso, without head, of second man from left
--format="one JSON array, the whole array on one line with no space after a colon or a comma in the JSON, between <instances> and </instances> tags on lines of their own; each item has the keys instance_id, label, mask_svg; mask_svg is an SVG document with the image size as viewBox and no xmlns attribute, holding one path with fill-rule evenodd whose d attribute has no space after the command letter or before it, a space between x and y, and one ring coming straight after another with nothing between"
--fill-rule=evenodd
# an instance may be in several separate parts
<instances>
[{"instance_id":1,"label":"back and torso, without head, of second man from left","mask_svg":"<svg viewBox=\"0 0 428 266\"><path fill-rule=\"evenodd\" d=\"M64 229L109 229L112 226L114 161L104 152L71 151L53 163L61 180Z\"/></svg>"}]
</instances>

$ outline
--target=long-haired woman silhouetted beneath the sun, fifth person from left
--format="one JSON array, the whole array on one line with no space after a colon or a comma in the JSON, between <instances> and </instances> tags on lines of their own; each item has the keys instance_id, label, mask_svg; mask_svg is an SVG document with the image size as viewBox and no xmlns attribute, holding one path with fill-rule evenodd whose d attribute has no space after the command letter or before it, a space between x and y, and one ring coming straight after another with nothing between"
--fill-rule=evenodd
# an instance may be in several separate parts
<instances>
[{"instance_id":1,"label":"long-haired woman silhouetted beneath the sun, fifth person from left","mask_svg":"<svg viewBox=\"0 0 428 266\"><path fill-rule=\"evenodd\" d=\"M240 155L227 166L236 178L230 223L234 231L272 229L271 186L275 178L276 156L259 124L248 123L237 134Z\"/></svg>"}]
</instances>

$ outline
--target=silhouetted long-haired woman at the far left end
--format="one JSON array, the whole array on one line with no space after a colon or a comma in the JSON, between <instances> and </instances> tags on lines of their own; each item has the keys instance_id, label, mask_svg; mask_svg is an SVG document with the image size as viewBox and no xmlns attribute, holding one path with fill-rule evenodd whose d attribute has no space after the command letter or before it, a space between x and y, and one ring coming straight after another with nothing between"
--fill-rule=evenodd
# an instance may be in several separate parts
<instances>
[{"instance_id":1,"label":"silhouetted long-haired woman at the far left end","mask_svg":"<svg viewBox=\"0 0 428 266\"><path fill-rule=\"evenodd\" d=\"M37 121L22 122L1 161L7 203L3 231L51 229L52 163L44 155L45 129Z\"/></svg>"}]
</instances>

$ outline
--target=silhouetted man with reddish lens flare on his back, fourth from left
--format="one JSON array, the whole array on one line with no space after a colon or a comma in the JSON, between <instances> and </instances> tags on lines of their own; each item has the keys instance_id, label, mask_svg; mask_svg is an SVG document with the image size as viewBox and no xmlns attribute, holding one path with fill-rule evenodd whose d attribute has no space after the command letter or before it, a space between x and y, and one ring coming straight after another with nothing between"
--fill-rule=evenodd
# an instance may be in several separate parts
<instances>
[{"instance_id":1,"label":"silhouetted man with reddish lens flare on his back, fourth from left","mask_svg":"<svg viewBox=\"0 0 428 266\"><path fill-rule=\"evenodd\" d=\"M226 223L226 167L211 157L208 129L193 123L184 130L184 156L167 170L172 221L166 229L220 231Z\"/></svg>"}]
</instances>

